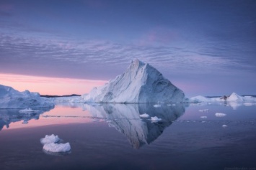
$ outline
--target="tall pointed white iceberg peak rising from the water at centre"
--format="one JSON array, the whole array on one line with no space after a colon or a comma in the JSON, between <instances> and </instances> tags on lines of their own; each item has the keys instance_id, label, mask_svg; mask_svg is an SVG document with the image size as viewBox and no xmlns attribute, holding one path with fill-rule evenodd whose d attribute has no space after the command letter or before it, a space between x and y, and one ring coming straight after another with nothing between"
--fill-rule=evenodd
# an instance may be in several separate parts
<instances>
[{"instance_id":1,"label":"tall pointed white iceberg peak rising from the water at centre","mask_svg":"<svg viewBox=\"0 0 256 170\"><path fill-rule=\"evenodd\" d=\"M154 67L133 60L122 75L81 98L99 103L180 103L185 95Z\"/></svg>"}]
</instances>

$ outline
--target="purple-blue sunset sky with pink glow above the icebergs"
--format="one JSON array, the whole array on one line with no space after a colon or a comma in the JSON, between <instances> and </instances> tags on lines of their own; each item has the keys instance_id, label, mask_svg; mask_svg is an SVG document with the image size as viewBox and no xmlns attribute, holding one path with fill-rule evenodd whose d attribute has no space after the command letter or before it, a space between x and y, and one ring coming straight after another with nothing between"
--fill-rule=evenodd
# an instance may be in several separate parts
<instances>
[{"instance_id":1,"label":"purple-blue sunset sky with pink glow above the icebergs","mask_svg":"<svg viewBox=\"0 0 256 170\"><path fill-rule=\"evenodd\" d=\"M256 95L255 0L0 0L0 84L89 93L134 59L185 95Z\"/></svg>"}]
</instances>

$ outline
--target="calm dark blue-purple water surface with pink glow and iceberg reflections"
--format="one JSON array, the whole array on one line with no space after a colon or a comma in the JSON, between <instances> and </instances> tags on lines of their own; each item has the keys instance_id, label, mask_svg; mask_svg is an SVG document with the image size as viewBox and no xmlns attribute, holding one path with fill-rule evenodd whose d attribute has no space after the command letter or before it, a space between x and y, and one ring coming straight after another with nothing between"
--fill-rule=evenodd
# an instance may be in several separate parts
<instances>
[{"instance_id":1,"label":"calm dark blue-purple water surface with pink glow and iceberg reflections","mask_svg":"<svg viewBox=\"0 0 256 170\"><path fill-rule=\"evenodd\" d=\"M226 116L216 117L217 112ZM162 121L140 118L143 113ZM0 129L1 170L256 170L255 105L57 105L36 114L0 110ZM45 153L40 138L46 134L71 143L71 153Z\"/></svg>"}]
</instances>

